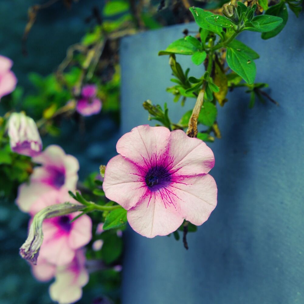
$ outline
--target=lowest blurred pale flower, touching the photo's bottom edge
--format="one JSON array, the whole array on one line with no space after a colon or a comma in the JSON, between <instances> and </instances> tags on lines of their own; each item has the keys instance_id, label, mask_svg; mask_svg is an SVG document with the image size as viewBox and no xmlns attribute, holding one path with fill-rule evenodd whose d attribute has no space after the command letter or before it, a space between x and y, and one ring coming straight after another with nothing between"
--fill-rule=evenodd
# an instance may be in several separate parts
<instances>
[{"instance_id":1,"label":"lowest blurred pale flower, touching the photo's bottom edge","mask_svg":"<svg viewBox=\"0 0 304 304\"><path fill-rule=\"evenodd\" d=\"M50 285L50 297L59 304L70 304L81 299L82 287L88 283L85 254L78 250L70 264L57 268L55 282Z\"/></svg>"}]
</instances>

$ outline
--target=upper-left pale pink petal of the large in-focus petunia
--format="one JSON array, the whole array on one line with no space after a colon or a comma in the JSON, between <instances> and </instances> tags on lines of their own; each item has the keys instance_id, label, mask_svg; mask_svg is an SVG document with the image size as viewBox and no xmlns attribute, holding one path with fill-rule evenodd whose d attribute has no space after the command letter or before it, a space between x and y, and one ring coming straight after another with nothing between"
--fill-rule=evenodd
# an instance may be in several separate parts
<instances>
[{"instance_id":1,"label":"upper-left pale pink petal of the large in-focus petunia","mask_svg":"<svg viewBox=\"0 0 304 304\"><path fill-rule=\"evenodd\" d=\"M163 159L169 136L170 131L165 127L138 126L118 140L116 150L141 167L148 168Z\"/></svg>"}]
</instances>

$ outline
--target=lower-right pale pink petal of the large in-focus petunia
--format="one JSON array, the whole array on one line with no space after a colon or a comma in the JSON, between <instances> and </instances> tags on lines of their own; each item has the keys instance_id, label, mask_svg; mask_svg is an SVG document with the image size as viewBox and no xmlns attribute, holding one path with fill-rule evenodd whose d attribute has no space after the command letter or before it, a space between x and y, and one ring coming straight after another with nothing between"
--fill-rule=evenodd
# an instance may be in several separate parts
<instances>
[{"instance_id":1,"label":"lower-right pale pink petal of the large in-focus petunia","mask_svg":"<svg viewBox=\"0 0 304 304\"><path fill-rule=\"evenodd\" d=\"M194 225L206 222L216 207L216 182L209 174L184 178L181 183L173 183L168 190L174 193L182 216Z\"/></svg>"}]
</instances>

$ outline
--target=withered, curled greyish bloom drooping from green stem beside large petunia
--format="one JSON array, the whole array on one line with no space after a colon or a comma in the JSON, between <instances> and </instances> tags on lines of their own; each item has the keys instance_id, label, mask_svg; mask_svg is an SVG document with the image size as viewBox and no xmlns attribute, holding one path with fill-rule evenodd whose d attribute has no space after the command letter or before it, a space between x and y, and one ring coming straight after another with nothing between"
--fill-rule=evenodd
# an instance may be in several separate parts
<instances>
[{"instance_id":1,"label":"withered, curled greyish bloom drooping from green stem beside large petunia","mask_svg":"<svg viewBox=\"0 0 304 304\"><path fill-rule=\"evenodd\" d=\"M34 265L37 264L39 250L43 242L42 223L44 219L67 215L82 209L84 209L84 206L82 205L64 203L48 206L36 213L29 228L29 235L25 243L19 249L21 257L32 262Z\"/></svg>"}]
</instances>

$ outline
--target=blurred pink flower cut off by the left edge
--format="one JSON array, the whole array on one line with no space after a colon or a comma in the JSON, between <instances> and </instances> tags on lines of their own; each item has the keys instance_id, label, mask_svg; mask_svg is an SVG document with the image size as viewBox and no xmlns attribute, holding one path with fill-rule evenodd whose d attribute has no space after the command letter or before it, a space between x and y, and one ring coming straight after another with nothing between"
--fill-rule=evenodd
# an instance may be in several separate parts
<instances>
[{"instance_id":1,"label":"blurred pink flower cut off by the left edge","mask_svg":"<svg viewBox=\"0 0 304 304\"><path fill-rule=\"evenodd\" d=\"M16 88L17 78L11 71L12 65L12 60L0 55L0 99Z\"/></svg>"}]
</instances>

